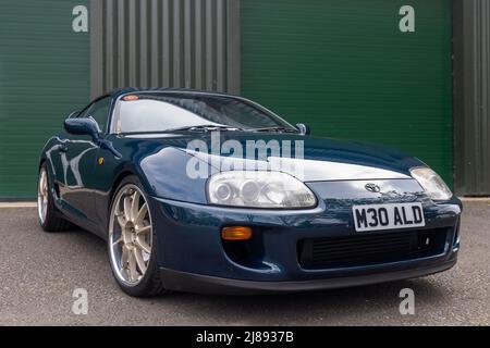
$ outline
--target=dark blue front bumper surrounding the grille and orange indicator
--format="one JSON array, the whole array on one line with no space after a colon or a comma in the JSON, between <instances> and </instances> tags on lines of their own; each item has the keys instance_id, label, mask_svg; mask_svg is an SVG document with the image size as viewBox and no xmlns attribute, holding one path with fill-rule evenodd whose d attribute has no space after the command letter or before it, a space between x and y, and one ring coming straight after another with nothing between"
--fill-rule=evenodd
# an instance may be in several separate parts
<instances>
[{"instance_id":1,"label":"dark blue front bumper surrounding the grille and orange indicator","mask_svg":"<svg viewBox=\"0 0 490 348\"><path fill-rule=\"evenodd\" d=\"M405 181L396 185L411 191L418 187L414 183ZM362 187L363 184L356 185ZM291 293L419 277L445 271L456 263L461 202L454 198L433 203L427 198L411 196L411 200L424 204L424 229L445 233L443 248L437 253L352 266L305 266L298 259L302 240L356 236L359 233L353 228L352 206L380 202L378 198L366 201L366 194L352 184L348 189L340 183L315 183L310 188L320 198L318 207L310 210L234 209L151 198L156 212L154 226L158 233L158 264L164 286L174 290L234 295ZM406 199L399 195L391 199L384 197L382 202ZM220 232L230 225L254 229L256 240L249 246L253 251L246 262L234 260L223 245Z\"/></svg>"}]
</instances>

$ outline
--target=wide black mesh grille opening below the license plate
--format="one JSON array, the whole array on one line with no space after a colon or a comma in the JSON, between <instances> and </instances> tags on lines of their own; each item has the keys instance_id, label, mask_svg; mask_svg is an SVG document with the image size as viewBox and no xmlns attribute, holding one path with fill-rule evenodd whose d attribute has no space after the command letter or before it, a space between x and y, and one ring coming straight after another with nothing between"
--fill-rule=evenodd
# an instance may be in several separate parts
<instances>
[{"instance_id":1,"label":"wide black mesh grille opening below the license plate","mask_svg":"<svg viewBox=\"0 0 490 348\"><path fill-rule=\"evenodd\" d=\"M365 233L347 237L303 239L303 268L346 268L425 258L444 251L448 229Z\"/></svg>"}]
</instances>

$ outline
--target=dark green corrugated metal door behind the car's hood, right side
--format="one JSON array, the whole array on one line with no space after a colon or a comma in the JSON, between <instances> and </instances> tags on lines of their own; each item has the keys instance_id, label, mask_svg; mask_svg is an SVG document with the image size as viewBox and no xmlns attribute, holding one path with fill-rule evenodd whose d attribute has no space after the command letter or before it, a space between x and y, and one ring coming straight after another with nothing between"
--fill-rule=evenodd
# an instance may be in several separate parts
<instances>
[{"instance_id":1,"label":"dark green corrugated metal door behind the car's hood, right side","mask_svg":"<svg viewBox=\"0 0 490 348\"><path fill-rule=\"evenodd\" d=\"M400 28L406 4L415 32ZM400 148L452 184L450 0L244 0L241 17L245 96L315 135Z\"/></svg>"}]
</instances>

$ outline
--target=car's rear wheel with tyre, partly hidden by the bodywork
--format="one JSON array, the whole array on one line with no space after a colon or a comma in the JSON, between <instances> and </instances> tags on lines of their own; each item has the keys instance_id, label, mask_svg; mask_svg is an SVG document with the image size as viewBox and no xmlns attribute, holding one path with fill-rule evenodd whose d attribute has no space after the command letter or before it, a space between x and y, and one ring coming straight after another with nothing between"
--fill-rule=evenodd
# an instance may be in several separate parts
<instances>
[{"instance_id":1,"label":"car's rear wheel with tyre, partly hidden by the bodywork","mask_svg":"<svg viewBox=\"0 0 490 348\"><path fill-rule=\"evenodd\" d=\"M37 182L37 217L39 225L45 232L62 232L73 229L73 225L61 217L54 207L48 166L46 163L39 169Z\"/></svg>"}]
</instances>

